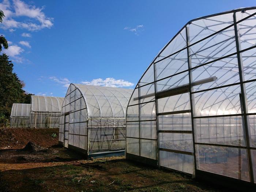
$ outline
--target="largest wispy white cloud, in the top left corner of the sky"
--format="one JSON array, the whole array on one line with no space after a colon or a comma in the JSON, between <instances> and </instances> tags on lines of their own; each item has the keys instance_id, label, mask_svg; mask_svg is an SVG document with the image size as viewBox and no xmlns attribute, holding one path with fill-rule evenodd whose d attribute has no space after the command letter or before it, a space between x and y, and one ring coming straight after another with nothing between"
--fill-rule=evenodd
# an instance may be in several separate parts
<instances>
[{"instance_id":1,"label":"largest wispy white cloud, in the top left corner of the sky","mask_svg":"<svg viewBox=\"0 0 256 192\"><path fill-rule=\"evenodd\" d=\"M0 25L3 29L23 28L29 31L41 30L44 28L51 28L53 26L53 18L48 18L42 11L43 8L35 7L34 5L26 4L20 0L4 0L0 3L0 10L4 11L5 18ZM28 21L18 22L14 20L17 17L27 17ZM31 19L34 19L31 21Z\"/></svg>"}]
</instances>

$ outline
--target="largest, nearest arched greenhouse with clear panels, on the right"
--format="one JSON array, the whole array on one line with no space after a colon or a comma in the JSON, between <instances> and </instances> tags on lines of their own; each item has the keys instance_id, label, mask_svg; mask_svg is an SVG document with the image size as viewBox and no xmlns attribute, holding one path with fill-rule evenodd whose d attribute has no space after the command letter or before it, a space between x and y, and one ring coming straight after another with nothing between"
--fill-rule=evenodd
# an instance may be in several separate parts
<instances>
[{"instance_id":1,"label":"largest, nearest arched greenhouse with clear panels, on the right","mask_svg":"<svg viewBox=\"0 0 256 192\"><path fill-rule=\"evenodd\" d=\"M254 7L182 27L133 91L127 159L255 187L255 26Z\"/></svg>"}]
</instances>

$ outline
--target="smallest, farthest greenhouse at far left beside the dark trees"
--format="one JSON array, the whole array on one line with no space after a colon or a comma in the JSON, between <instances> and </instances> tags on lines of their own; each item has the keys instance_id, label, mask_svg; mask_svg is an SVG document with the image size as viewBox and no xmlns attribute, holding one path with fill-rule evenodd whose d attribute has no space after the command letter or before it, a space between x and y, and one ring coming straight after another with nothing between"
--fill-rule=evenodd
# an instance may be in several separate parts
<instances>
[{"instance_id":1,"label":"smallest, farthest greenhouse at far left beside the dark trees","mask_svg":"<svg viewBox=\"0 0 256 192\"><path fill-rule=\"evenodd\" d=\"M10 127L29 128L30 104L13 103Z\"/></svg>"}]
</instances>

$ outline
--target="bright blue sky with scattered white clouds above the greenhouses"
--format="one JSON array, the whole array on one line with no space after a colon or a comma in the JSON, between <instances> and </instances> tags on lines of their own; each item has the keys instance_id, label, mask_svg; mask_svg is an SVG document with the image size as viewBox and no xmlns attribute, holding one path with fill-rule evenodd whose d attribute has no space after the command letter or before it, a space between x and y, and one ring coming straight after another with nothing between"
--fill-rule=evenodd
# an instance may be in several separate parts
<instances>
[{"instance_id":1,"label":"bright blue sky with scattered white clouds above the greenhouses","mask_svg":"<svg viewBox=\"0 0 256 192\"><path fill-rule=\"evenodd\" d=\"M255 6L255 0L0 1L0 34L14 71L38 95L69 83L134 88L159 50L189 20Z\"/></svg>"}]
</instances>

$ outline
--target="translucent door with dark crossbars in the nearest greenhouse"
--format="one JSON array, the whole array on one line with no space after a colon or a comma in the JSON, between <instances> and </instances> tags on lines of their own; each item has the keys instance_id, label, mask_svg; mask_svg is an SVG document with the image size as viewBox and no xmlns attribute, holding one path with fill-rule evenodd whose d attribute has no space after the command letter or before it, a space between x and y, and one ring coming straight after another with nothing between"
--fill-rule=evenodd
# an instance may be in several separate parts
<instances>
[{"instance_id":1,"label":"translucent door with dark crossbars in the nearest greenhouse","mask_svg":"<svg viewBox=\"0 0 256 192\"><path fill-rule=\"evenodd\" d=\"M193 174L194 156L188 89L157 93L157 105L159 165Z\"/></svg>"}]
</instances>

